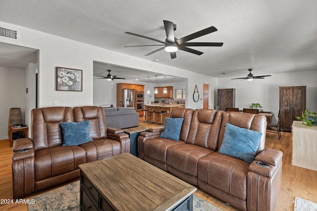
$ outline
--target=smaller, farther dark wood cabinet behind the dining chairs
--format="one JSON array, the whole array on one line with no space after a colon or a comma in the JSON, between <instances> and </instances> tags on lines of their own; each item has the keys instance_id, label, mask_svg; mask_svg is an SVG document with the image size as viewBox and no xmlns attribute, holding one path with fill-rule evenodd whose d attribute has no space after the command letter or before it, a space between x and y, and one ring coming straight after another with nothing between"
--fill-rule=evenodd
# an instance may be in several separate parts
<instances>
[{"instance_id":1,"label":"smaller, farther dark wood cabinet behind the dining chairs","mask_svg":"<svg viewBox=\"0 0 317 211\"><path fill-rule=\"evenodd\" d=\"M218 89L218 106L219 110L226 110L226 107L235 107L236 90L235 89Z\"/></svg>"}]
</instances>

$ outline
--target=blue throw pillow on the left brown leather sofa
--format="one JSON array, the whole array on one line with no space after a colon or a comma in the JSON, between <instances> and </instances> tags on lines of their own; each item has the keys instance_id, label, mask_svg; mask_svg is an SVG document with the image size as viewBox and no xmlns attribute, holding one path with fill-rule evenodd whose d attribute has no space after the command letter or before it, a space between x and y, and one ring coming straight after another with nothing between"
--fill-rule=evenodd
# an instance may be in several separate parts
<instances>
[{"instance_id":1,"label":"blue throw pillow on the left brown leather sofa","mask_svg":"<svg viewBox=\"0 0 317 211\"><path fill-rule=\"evenodd\" d=\"M63 131L63 145L74 146L93 141L89 136L89 121L60 122Z\"/></svg>"}]
</instances>

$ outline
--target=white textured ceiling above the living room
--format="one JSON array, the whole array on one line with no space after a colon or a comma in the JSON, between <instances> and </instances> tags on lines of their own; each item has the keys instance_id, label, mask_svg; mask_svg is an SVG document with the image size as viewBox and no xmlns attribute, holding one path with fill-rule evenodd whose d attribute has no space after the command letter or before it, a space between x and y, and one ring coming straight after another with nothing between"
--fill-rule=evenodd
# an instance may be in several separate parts
<instances>
[{"instance_id":1,"label":"white textured ceiling above the living room","mask_svg":"<svg viewBox=\"0 0 317 211\"><path fill-rule=\"evenodd\" d=\"M154 60L212 77L317 70L316 0L0 0L0 21L47 32L112 51ZM177 25L181 38L214 26L218 31L193 42L204 54L147 53L165 40L163 20ZM226 74L219 74L224 72ZM119 75L118 75L119 76Z\"/></svg>"}]
</instances>

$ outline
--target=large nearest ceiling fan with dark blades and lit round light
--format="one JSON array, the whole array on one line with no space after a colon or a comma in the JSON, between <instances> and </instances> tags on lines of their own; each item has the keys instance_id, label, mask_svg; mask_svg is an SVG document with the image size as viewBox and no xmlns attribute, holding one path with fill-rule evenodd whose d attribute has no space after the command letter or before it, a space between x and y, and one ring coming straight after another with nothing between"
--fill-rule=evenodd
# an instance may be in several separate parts
<instances>
[{"instance_id":1,"label":"large nearest ceiling fan with dark blades and lit round light","mask_svg":"<svg viewBox=\"0 0 317 211\"><path fill-rule=\"evenodd\" d=\"M187 48L188 46L215 46L215 47L221 47L223 43L187 43L187 41L193 40L198 37L202 37L204 35L210 34L212 32L217 31L217 29L214 26L208 27L206 29L203 29L201 31L195 32L193 34L187 35L185 37L182 37L180 39L177 39L174 37L174 31L176 30L176 24L173 24L171 21L163 20L164 22L164 28L165 28L165 33L166 33L166 39L165 41L160 41L154 38L146 37L143 35L135 34L132 32L125 32L126 34L129 35L134 35L137 37L142 37L145 39L153 40L159 43L162 43L161 45L141 45L141 46L163 46L162 48L159 48L158 50L155 50L151 53L148 53L146 55L151 55L152 53L157 53L163 49L165 49L166 52L170 53L171 58L176 58L176 51L177 50L182 50L185 52L189 53L194 53L197 55L203 54L203 52L196 51L191 48ZM125 47L141 47L141 46L125 46Z\"/></svg>"}]
</instances>

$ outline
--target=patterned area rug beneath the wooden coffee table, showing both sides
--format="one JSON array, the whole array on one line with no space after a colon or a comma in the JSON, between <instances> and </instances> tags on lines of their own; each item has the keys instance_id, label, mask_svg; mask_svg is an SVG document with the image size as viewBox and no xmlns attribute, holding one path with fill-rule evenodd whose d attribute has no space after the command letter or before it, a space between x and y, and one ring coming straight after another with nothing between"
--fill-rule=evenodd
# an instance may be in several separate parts
<instances>
[{"instance_id":1,"label":"patterned area rug beneath the wooden coffee table, showing both sides","mask_svg":"<svg viewBox=\"0 0 317 211\"><path fill-rule=\"evenodd\" d=\"M79 211L79 181L56 188L29 200L28 211ZM32 203L34 202L34 203ZM194 211L221 211L200 197L194 195Z\"/></svg>"}]
</instances>

